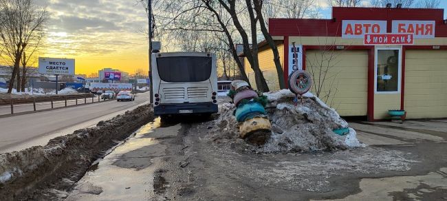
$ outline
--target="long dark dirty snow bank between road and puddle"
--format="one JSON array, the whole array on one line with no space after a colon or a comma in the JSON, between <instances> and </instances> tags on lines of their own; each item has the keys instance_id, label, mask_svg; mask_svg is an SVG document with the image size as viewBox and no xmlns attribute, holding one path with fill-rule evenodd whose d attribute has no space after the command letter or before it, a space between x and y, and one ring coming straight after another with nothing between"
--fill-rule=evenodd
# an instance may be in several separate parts
<instances>
[{"instance_id":1,"label":"long dark dirty snow bank between road and puddle","mask_svg":"<svg viewBox=\"0 0 447 201\"><path fill-rule=\"evenodd\" d=\"M0 154L0 200L52 200L48 189L69 189L91 162L151 120L151 107L143 105L44 147Z\"/></svg>"}]
</instances>

